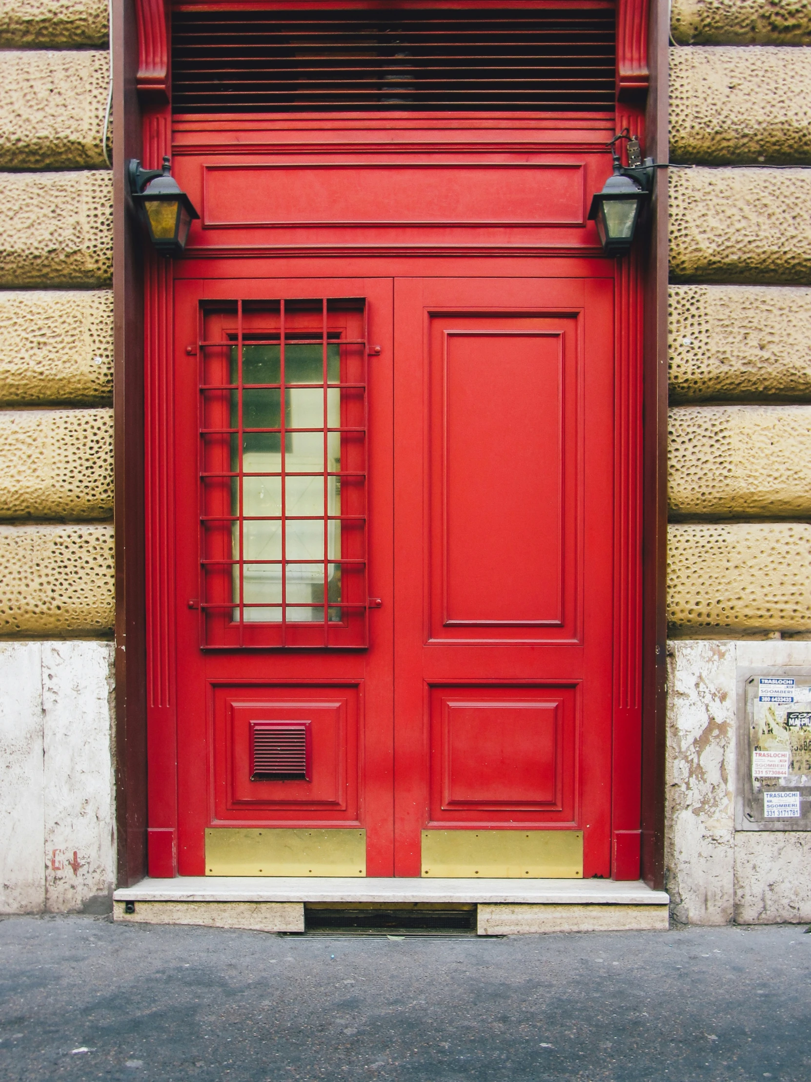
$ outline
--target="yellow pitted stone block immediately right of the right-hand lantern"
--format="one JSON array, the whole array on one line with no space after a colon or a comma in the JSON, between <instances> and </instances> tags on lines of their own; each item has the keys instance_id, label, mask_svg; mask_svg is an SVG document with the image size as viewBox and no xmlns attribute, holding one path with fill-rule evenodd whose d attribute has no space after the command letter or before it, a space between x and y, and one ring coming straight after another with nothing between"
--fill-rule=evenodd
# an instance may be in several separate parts
<instances>
[{"instance_id":1,"label":"yellow pitted stone block immediately right of the right-hand lantern","mask_svg":"<svg viewBox=\"0 0 811 1082\"><path fill-rule=\"evenodd\" d=\"M811 282L811 170L672 169L670 277Z\"/></svg>"}]
</instances>

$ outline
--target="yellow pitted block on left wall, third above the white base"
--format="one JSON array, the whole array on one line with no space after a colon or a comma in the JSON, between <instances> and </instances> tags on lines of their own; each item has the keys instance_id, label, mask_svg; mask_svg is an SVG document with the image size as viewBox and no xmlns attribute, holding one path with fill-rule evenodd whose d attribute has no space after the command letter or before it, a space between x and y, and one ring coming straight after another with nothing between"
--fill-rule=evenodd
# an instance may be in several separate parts
<instances>
[{"instance_id":1,"label":"yellow pitted block on left wall, third above the white base","mask_svg":"<svg viewBox=\"0 0 811 1082\"><path fill-rule=\"evenodd\" d=\"M0 290L0 405L111 398L110 290Z\"/></svg>"}]
</instances>

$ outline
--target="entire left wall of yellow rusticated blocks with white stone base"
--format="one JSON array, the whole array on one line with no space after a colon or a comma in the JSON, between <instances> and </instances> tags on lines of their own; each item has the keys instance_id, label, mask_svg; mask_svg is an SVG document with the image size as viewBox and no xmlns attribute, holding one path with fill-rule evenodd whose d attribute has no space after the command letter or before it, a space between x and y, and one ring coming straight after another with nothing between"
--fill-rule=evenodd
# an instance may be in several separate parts
<instances>
[{"instance_id":1,"label":"entire left wall of yellow rusticated blocks with white stone base","mask_svg":"<svg viewBox=\"0 0 811 1082\"><path fill-rule=\"evenodd\" d=\"M107 0L0 0L0 913L97 912L115 881Z\"/></svg>"}]
</instances>

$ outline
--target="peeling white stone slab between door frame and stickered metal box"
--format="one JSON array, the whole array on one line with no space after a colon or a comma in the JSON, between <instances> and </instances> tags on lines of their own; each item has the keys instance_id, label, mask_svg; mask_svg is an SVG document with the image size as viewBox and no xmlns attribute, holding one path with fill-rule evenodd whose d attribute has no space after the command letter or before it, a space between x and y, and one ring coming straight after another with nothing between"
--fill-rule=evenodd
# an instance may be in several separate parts
<instances>
[{"instance_id":1,"label":"peeling white stone slab between door frame and stickered metal box","mask_svg":"<svg viewBox=\"0 0 811 1082\"><path fill-rule=\"evenodd\" d=\"M665 885L682 924L733 916L735 644L675 642L667 656Z\"/></svg>"}]
</instances>

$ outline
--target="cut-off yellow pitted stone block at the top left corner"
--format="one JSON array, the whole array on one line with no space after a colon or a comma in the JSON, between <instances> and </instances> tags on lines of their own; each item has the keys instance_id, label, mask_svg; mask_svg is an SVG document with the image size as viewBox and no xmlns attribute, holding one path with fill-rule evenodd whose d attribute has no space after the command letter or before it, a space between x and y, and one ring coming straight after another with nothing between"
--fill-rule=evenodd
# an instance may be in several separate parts
<instances>
[{"instance_id":1,"label":"cut-off yellow pitted stone block at the top left corner","mask_svg":"<svg viewBox=\"0 0 811 1082\"><path fill-rule=\"evenodd\" d=\"M107 0L0 0L0 47L106 43Z\"/></svg>"}]
</instances>

